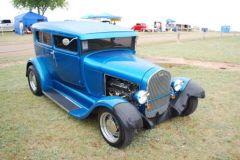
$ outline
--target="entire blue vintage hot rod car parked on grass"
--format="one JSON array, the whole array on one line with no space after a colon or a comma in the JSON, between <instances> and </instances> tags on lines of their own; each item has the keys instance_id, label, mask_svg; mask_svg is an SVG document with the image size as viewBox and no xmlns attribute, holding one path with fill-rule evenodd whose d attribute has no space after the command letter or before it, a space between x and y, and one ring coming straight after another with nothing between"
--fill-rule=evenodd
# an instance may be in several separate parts
<instances>
[{"instance_id":1,"label":"entire blue vintage hot rod car parked on grass","mask_svg":"<svg viewBox=\"0 0 240 160\"><path fill-rule=\"evenodd\" d=\"M75 118L98 113L108 144L129 145L135 130L195 111L203 88L135 56L137 34L98 22L33 25L36 57L27 62L33 94L45 94Z\"/></svg>"}]
</instances>

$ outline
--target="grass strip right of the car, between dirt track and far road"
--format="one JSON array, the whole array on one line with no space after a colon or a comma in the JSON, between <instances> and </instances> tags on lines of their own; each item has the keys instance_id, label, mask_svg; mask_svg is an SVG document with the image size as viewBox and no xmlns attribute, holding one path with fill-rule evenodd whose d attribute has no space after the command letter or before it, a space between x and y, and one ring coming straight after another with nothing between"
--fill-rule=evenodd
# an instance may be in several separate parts
<instances>
[{"instance_id":1,"label":"grass strip right of the car, between dirt track and far road","mask_svg":"<svg viewBox=\"0 0 240 160\"><path fill-rule=\"evenodd\" d=\"M240 37L153 42L137 46L137 55L240 64Z\"/></svg>"}]
</instances>

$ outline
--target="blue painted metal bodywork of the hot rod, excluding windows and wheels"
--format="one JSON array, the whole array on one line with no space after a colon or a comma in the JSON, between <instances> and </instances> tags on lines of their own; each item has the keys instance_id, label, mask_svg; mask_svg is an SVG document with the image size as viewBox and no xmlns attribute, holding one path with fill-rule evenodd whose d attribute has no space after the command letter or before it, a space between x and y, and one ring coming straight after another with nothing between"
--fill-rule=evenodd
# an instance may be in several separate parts
<instances>
[{"instance_id":1,"label":"blue painted metal bodywork of the hot rod, excluding windows and wheels","mask_svg":"<svg viewBox=\"0 0 240 160\"><path fill-rule=\"evenodd\" d=\"M37 31L49 33L52 45L39 42ZM137 36L126 28L97 22L42 22L33 25L33 35L36 57L31 58L27 66L35 66L43 91L54 88L82 107L69 112L79 119L86 118L97 107L112 109L127 102L121 97L105 95L104 75L134 82L146 90L149 77L163 69L136 57L134 49L108 49L82 55L82 40ZM53 35L77 37L77 52L57 48ZM179 78L172 81L176 79ZM189 79L180 79L184 81L184 90ZM139 105L138 109L144 115L145 105Z\"/></svg>"}]
</instances>

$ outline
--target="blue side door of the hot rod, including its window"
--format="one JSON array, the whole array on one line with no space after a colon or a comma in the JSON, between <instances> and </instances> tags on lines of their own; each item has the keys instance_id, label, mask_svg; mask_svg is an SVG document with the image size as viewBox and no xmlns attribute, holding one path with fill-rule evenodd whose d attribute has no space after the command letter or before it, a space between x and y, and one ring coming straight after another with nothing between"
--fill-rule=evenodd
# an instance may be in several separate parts
<instances>
[{"instance_id":1,"label":"blue side door of the hot rod, including its window","mask_svg":"<svg viewBox=\"0 0 240 160\"><path fill-rule=\"evenodd\" d=\"M53 41L54 50L50 51L49 61L60 81L72 87L81 87L79 39L74 36L53 35Z\"/></svg>"}]
</instances>

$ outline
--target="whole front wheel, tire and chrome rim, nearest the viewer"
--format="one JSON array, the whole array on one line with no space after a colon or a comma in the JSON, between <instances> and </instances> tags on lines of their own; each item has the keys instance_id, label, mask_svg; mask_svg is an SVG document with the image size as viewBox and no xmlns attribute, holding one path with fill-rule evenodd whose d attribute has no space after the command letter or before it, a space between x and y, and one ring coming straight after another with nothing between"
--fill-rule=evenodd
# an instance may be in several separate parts
<instances>
[{"instance_id":1,"label":"whole front wheel, tire and chrome rim, nearest the viewer","mask_svg":"<svg viewBox=\"0 0 240 160\"><path fill-rule=\"evenodd\" d=\"M126 147L134 139L135 130L126 129L120 123L120 119L108 108L99 111L98 123L103 138L113 147Z\"/></svg>"}]
</instances>

